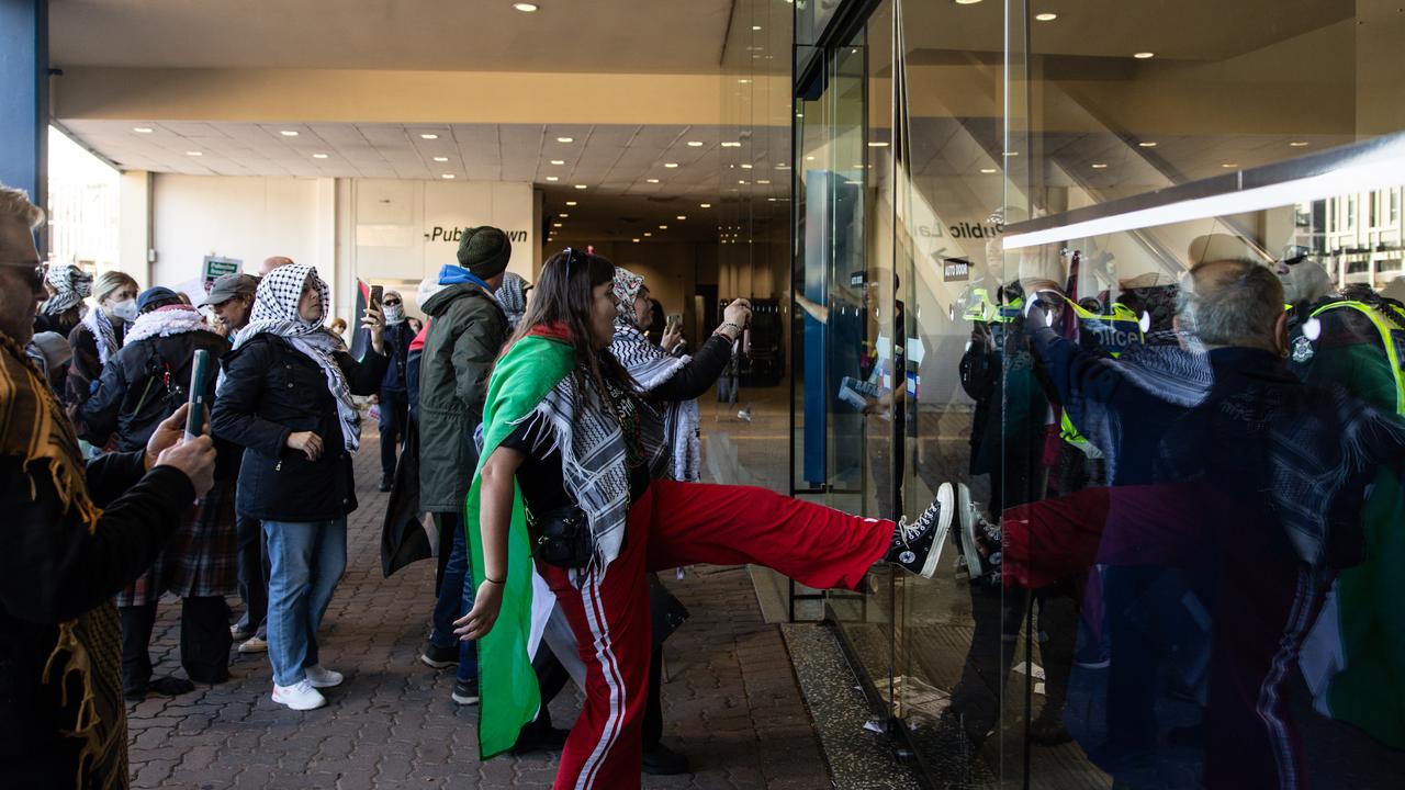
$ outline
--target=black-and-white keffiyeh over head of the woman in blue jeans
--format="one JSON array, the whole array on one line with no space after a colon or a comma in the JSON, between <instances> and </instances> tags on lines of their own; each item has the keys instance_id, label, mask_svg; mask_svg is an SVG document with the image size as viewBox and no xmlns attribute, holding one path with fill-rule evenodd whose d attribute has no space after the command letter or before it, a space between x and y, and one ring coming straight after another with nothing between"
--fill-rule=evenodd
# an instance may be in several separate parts
<instances>
[{"instance_id":1,"label":"black-and-white keffiyeh over head of the woman in blue jeans","mask_svg":"<svg viewBox=\"0 0 1405 790\"><path fill-rule=\"evenodd\" d=\"M309 278L322 299L322 316L326 316L332 291L327 283L318 277L318 268L311 263L280 266L259 283L249 326L239 330L235 349L240 349L259 335L277 335L318 363L327 377L327 389L337 402L343 444L347 451L355 451L361 446L361 413L351 401L351 388L347 387L346 374L341 373L336 358L337 353L346 351L346 343L322 326L322 316L318 320L303 320L298 315L302 285Z\"/></svg>"}]
</instances>

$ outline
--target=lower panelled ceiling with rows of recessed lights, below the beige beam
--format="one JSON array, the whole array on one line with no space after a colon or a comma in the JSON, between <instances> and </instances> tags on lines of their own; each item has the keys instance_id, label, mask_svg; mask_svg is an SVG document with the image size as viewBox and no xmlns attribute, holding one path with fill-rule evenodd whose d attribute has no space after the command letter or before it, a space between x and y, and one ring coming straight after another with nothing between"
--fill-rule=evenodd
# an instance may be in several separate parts
<instances>
[{"instance_id":1,"label":"lower panelled ceiling with rows of recessed lights, below the beige beam","mask_svg":"<svg viewBox=\"0 0 1405 790\"><path fill-rule=\"evenodd\" d=\"M717 221L701 204L721 205L721 194L732 187L731 176L750 180L752 194L780 198L790 188L790 170L776 167L787 163L770 159L763 142L722 149L718 127L70 119L63 128L124 170L528 181L545 194L548 214L573 214L573 232L611 238L670 222L672 238L717 238ZM572 142L558 142L568 136ZM743 159L753 167L742 169ZM729 173L729 190L719 183L724 171ZM769 183L760 184L763 180ZM577 205L566 207L568 200ZM679 222L679 214L688 221Z\"/></svg>"}]
</instances>

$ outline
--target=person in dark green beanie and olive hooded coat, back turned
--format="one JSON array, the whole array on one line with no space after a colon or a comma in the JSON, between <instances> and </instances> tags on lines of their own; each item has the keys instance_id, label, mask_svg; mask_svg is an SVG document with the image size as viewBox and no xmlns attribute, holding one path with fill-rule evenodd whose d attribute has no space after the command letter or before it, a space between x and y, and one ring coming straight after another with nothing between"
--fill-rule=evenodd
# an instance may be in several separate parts
<instances>
[{"instance_id":1,"label":"person in dark green beanie and olive hooded coat, back turned","mask_svg":"<svg viewBox=\"0 0 1405 790\"><path fill-rule=\"evenodd\" d=\"M473 593L472 583L465 585L472 575L461 513L478 467L473 429L483 420L488 371L507 342L507 316L493 292L511 252L497 228L464 229L458 266L440 270L443 288L420 305L430 316L420 356L420 507L434 513L440 557L448 557L420 661L436 669L458 663L452 696L459 704L478 701L476 654L454 635L454 620L468 611Z\"/></svg>"}]
</instances>

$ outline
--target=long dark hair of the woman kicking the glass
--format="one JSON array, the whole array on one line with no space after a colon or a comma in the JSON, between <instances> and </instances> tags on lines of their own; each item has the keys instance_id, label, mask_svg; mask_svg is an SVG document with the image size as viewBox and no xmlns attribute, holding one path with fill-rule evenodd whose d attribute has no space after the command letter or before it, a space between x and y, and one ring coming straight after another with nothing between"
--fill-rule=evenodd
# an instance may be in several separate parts
<instances>
[{"instance_id":1,"label":"long dark hair of the woman kicking the glass","mask_svg":"<svg viewBox=\"0 0 1405 790\"><path fill-rule=\"evenodd\" d=\"M629 373L608 350L596 349L590 335L594 312L592 290L611 281L614 264L597 254L566 247L547 259L532 285L527 312L517 323L517 332L503 346L503 354L538 326L561 328L576 351L576 373L589 375L601 396L606 396L606 381L634 392L636 385Z\"/></svg>"}]
</instances>

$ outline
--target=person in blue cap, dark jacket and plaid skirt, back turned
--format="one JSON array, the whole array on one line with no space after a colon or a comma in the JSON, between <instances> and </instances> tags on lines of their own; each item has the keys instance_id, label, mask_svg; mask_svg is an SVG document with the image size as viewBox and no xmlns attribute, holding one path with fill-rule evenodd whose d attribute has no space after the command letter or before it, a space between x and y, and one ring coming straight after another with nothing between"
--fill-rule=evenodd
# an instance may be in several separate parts
<instances>
[{"instance_id":1,"label":"person in blue cap, dark jacket and plaid skirt, back turned","mask_svg":"<svg viewBox=\"0 0 1405 790\"><path fill-rule=\"evenodd\" d=\"M148 288L136 298L139 315L122 350L103 368L97 391L81 408L81 430L93 443L117 434L117 448L143 447L160 420L190 399L195 351L218 360L229 343L209 329L195 308L170 288ZM205 381L205 402L215 396L215 377ZM148 689L181 694L198 683L229 679L229 606L235 585L233 447L218 443L216 484L194 507L156 564L117 597L122 614L122 692L131 700ZM148 647L163 592L181 599L180 656L190 680L152 682Z\"/></svg>"}]
</instances>

